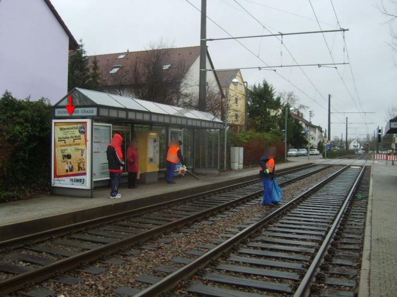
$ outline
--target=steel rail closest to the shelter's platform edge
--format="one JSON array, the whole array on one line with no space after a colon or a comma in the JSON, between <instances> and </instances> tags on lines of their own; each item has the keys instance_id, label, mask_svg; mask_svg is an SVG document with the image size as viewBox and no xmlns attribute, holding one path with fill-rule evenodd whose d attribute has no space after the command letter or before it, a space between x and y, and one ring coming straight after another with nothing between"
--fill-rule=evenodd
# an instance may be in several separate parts
<instances>
[{"instance_id":1,"label":"steel rail closest to the shelter's platform edge","mask_svg":"<svg viewBox=\"0 0 397 297\"><path fill-rule=\"evenodd\" d=\"M298 165L298 166L294 166L292 168L291 167L285 168L284 170L281 169L280 172L283 174L290 174L290 173L293 173L293 172L296 172L299 170L314 167L316 165L319 165L319 164L310 164L310 165L304 164L303 166ZM258 178L255 178L255 179L252 179L249 181L245 181L245 182L241 182L241 183L237 183L237 184L201 192L199 194L189 195L189 196L185 196L182 198L176 198L176 199L172 199L172 200L165 201L165 202L160 202L160 203L156 203L156 204L152 204L152 205L148 205L148 206L143 206L143 207L135 208L132 210L127 210L124 212L119 212L116 214L102 216L99 218L95 218L95 219L91 219L91 220L87 220L87 221L83 221L83 222L79 222L79 223L74 223L74 224L70 224L70 225L66 225L66 226L62 226L62 227L34 233L34 234L25 235L22 237L12 238L12 239L0 242L0 251L23 247L24 245L26 245L26 242L30 242L30 243L43 242L48 239L54 238L54 236L59 237L59 236L66 235L70 231L74 231L74 232L82 231L86 227L95 227L95 226L103 224L103 223L111 222L113 220L120 220L120 219L126 218L128 216L132 216L132 215L141 215L144 212L154 211L161 207L189 201L190 199L195 199L195 198L206 196L206 195L213 195L214 193L228 191L233 188L243 187L243 186L249 185L250 183L257 182L257 181L258 181Z\"/></svg>"}]
</instances>

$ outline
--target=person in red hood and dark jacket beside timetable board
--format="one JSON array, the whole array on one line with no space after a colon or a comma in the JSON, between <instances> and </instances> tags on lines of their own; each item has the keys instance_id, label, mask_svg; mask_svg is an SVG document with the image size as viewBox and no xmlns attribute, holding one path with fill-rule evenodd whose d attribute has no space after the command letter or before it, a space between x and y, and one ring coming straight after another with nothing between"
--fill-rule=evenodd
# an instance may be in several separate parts
<instances>
[{"instance_id":1,"label":"person in red hood and dark jacket beside timetable board","mask_svg":"<svg viewBox=\"0 0 397 297\"><path fill-rule=\"evenodd\" d=\"M112 141L106 149L106 155L109 164L110 173L110 198L119 199L121 195L118 193L119 185L121 182L121 173L123 172L123 151L121 145L123 143L123 138L120 134L113 135Z\"/></svg>"}]
</instances>

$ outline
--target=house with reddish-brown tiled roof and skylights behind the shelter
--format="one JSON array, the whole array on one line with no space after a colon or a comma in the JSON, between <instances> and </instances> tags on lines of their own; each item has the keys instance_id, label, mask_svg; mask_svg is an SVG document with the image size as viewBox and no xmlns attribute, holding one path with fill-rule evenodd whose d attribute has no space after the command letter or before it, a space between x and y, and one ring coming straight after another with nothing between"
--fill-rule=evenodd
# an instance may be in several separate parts
<instances>
[{"instance_id":1,"label":"house with reddish-brown tiled roof and skylights behind the shelter","mask_svg":"<svg viewBox=\"0 0 397 297\"><path fill-rule=\"evenodd\" d=\"M127 97L137 97L134 90L137 86L147 83L147 74L152 71L150 66L157 67L157 72L170 73L170 77L183 78L167 104L197 108L199 99L199 60L200 47L152 49L126 51L95 55L100 73L102 91ZM89 56L92 65L94 56ZM207 51L206 68L214 69ZM161 63L161 64L159 64ZM212 94L216 106L208 107L208 112L220 116L222 91L215 71L207 71L207 98ZM172 83L172 82L170 82ZM141 98L157 101L155 98ZM207 99L207 102L210 99ZM207 104L208 106L208 104ZM212 110L211 110L212 109Z\"/></svg>"}]
</instances>

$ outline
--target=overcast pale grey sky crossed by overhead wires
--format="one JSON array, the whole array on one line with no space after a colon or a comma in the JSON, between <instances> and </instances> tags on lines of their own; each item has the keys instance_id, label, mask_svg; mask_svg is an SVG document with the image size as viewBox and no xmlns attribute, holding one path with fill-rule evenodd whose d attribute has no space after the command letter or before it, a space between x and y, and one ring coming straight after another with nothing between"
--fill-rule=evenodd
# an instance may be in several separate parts
<instances>
[{"instance_id":1,"label":"overcast pale grey sky crossed by overhead wires","mask_svg":"<svg viewBox=\"0 0 397 297\"><path fill-rule=\"evenodd\" d=\"M200 7L200 0L190 1ZM272 33L319 30L309 0L237 0L263 25L234 0L207 2L207 16L233 36L268 34L266 28ZM311 2L321 28L336 29L331 0ZM159 39L172 42L175 47L199 45L200 14L186 0L52 0L52 3L73 36L83 39L90 55L141 50ZM332 111L375 111L376 114L366 117L367 122L374 124L349 125L350 135L373 134L376 126L385 126L386 109L397 104L397 67L393 59L397 61L397 53L387 44L391 41L389 26L384 24L385 17L375 7L377 3L380 0L333 0L341 27L349 29L345 41L358 97L349 65L337 67L347 88L335 69L317 66L303 67L304 72L298 67L277 68L277 73L242 70L244 80L253 85L266 79L277 92L294 91L301 103L314 110L313 123L324 128L327 128L328 94L332 95ZM207 20L207 38L226 36ZM327 33L325 38L334 62L347 61L342 34ZM281 44L275 37L241 42L268 65L294 64L284 47L280 55ZM332 62L321 34L285 36L283 43L299 64ZM208 42L207 46L215 68L265 66L235 40ZM306 118L309 110L305 112ZM345 116L349 122L363 122L365 118L360 114L333 114L331 122L344 122ZM344 135L344 129L342 124L332 124L331 137Z\"/></svg>"}]
</instances>

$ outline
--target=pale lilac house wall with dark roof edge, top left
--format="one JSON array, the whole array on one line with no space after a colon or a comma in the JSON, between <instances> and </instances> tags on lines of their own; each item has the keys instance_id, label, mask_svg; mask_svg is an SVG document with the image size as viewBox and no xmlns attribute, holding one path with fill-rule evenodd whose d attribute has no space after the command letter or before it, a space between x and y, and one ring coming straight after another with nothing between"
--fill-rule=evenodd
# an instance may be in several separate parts
<instances>
[{"instance_id":1,"label":"pale lilac house wall with dark roof edge, top left","mask_svg":"<svg viewBox=\"0 0 397 297\"><path fill-rule=\"evenodd\" d=\"M0 38L0 96L65 96L68 53L78 43L50 0L1 0Z\"/></svg>"}]
</instances>

